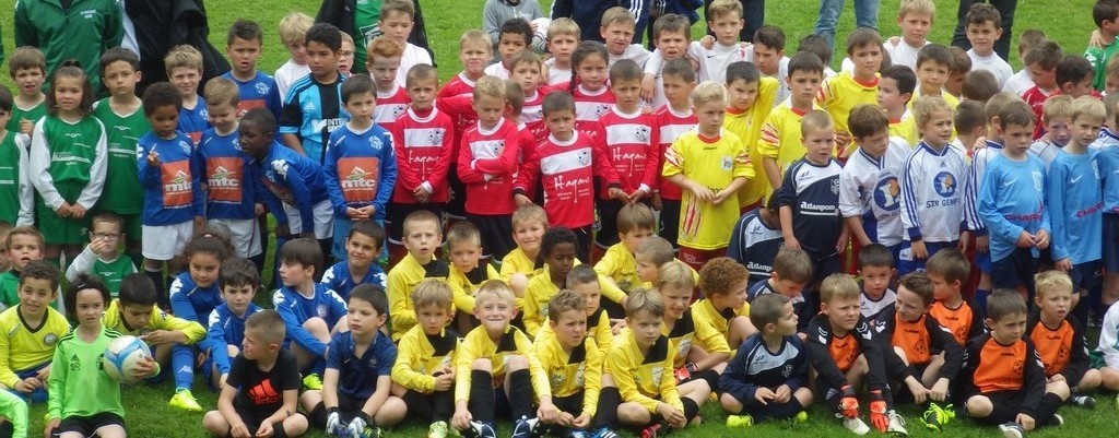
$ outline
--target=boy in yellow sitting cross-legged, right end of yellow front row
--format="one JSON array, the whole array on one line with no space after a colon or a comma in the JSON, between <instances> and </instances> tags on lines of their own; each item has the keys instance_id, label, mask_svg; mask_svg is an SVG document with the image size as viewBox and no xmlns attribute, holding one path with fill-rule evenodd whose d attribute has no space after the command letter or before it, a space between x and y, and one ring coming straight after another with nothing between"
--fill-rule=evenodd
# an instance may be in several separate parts
<instances>
[{"instance_id":1,"label":"boy in yellow sitting cross-legged, right end of yellow front row","mask_svg":"<svg viewBox=\"0 0 1119 438\"><path fill-rule=\"evenodd\" d=\"M653 291L637 289L626 303L629 330L614 339L606 353L604 373L621 393L618 421L656 437L667 428L683 429L699 413L711 387L704 380L677 385L673 379L673 351L661 334L665 302ZM603 378L605 380L605 378ZM610 409L603 404L600 410Z\"/></svg>"}]
</instances>

